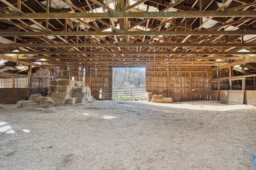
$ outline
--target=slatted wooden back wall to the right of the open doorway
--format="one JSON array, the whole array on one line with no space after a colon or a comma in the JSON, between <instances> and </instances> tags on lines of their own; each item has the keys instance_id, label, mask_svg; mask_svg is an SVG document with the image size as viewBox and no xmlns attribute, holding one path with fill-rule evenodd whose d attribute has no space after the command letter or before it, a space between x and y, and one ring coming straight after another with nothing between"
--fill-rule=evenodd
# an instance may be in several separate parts
<instances>
[{"instance_id":1,"label":"slatted wooden back wall to the right of the open doorway","mask_svg":"<svg viewBox=\"0 0 256 170\"><path fill-rule=\"evenodd\" d=\"M146 67L146 91L174 100L210 100L210 67Z\"/></svg>"}]
</instances>

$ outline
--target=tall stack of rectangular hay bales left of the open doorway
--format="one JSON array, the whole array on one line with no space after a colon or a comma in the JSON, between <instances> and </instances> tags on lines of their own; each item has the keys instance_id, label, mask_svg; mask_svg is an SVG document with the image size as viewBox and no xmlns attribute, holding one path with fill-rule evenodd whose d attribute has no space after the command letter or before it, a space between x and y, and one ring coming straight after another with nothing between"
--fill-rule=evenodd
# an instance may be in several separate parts
<instances>
[{"instance_id":1,"label":"tall stack of rectangular hay bales left of the open doorway","mask_svg":"<svg viewBox=\"0 0 256 170\"><path fill-rule=\"evenodd\" d=\"M55 102L54 106L62 106L65 104L78 104L87 101L92 101L91 90L84 86L84 82L73 80L50 80L51 89L50 96ZM54 85L55 84L55 85ZM55 88L53 87L55 86ZM49 96L48 92L48 96ZM53 93L52 93L53 92Z\"/></svg>"}]
</instances>

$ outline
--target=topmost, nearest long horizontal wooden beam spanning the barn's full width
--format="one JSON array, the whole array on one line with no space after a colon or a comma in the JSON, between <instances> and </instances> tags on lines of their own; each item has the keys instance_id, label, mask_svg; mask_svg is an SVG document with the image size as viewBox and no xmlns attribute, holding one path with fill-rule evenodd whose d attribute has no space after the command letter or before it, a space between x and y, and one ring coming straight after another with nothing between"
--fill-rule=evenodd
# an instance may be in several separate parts
<instances>
[{"instance_id":1,"label":"topmost, nearest long horizontal wooden beam spanning the barn's full width","mask_svg":"<svg viewBox=\"0 0 256 170\"><path fill-rule=\"evenodd\" d=\"M8 3L8 2L6 2ZM17 8L16 8L17 9ZM255 17L256 11L183 11L183 12L122 12L112 13L1 13L0 19L65 19L65 18L198 18Z\"/></svg>"}]
</instances>

